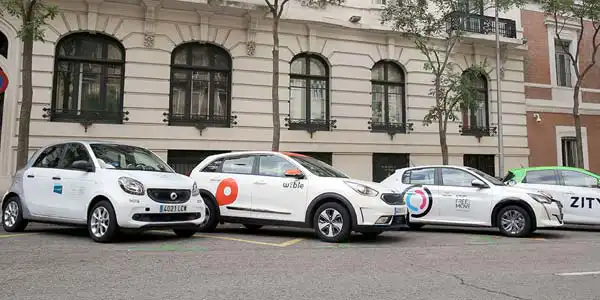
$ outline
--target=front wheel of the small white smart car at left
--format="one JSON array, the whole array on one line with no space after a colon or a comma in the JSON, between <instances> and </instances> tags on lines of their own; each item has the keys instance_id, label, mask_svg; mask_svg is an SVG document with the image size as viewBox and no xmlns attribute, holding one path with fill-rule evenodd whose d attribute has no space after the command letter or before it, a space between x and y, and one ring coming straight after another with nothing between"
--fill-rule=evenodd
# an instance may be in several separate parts
<instances>
[{"instance_id":1,"label":"front wheel of the small white smart car at left","mask_svg":"<svg viewBox=\"0 0 600 300\"><path fill-rule=\"evenodd\" d=\"M112 242L118 233L115 210L107 200L96 203L88 216L88 232L100 243Z\"/></svg>"}]
</instances>

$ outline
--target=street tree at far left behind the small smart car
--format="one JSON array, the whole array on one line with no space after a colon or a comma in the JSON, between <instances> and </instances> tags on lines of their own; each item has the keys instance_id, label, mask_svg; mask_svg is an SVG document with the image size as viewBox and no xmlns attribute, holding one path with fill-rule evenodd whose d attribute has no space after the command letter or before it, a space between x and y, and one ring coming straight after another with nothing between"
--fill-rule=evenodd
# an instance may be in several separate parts
<instances>
[{"instance_id":1,"label":"street tree at far left behind the small smart car","mask_svg":"<svg viewBox=\"0 0 600 300\"><path fill-rule=\"evenodd\" d=\"M17 31L23 41L22 81L23 94L19 114L19 138L17 143L17 169L25 166L29 156L29 123L33 102L32 60L33 44L44 41L44 31L48 20L57 13L55 5L45 0L0 0L0 15L8 14L21 20Z\"/></svg>"}]
</instances>

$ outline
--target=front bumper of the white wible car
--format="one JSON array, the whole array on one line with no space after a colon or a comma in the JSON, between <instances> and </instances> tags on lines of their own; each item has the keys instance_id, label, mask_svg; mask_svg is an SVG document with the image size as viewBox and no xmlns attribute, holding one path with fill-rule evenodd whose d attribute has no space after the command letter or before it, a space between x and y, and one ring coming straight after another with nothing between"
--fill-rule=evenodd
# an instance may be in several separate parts
<instances>
[{"instance_id":1,"label":"front bumper of the white wible car","mask_svg":"<svg viewBox=\"0 0 600 300\"><path fill-rule=\"evenodd\" d=\"M354 231L389 231L406 224L406 205L360 207Z\"/></svg>"}]
</instances>

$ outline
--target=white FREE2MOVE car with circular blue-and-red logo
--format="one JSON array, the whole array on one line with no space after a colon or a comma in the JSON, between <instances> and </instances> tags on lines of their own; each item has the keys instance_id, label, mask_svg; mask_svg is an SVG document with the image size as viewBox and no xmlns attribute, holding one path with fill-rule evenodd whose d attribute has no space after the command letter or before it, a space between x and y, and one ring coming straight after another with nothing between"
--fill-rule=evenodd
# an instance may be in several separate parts
<instances>
[{"instance_id":1,"label":"white FREE2MOVE car with circular blue-and-red logo","mask_svg":"<svg viewBox=\"0 0 600 300\"><path fill-rule=\"evenodd\" d=\"M429 165L396 170L381 184L400 189L408 207L407 224L498 227L522 237L537 228L563 225L559 201L535 191L506 186L474 168Z\"/></svg>"}]
</instances>

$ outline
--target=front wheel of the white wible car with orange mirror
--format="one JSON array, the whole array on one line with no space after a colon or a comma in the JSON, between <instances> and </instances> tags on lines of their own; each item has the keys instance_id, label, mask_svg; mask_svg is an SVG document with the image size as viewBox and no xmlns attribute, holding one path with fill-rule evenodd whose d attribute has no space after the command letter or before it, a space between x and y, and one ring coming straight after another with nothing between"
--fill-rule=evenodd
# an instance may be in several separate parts
<instances>
[{"instance_id":1,"label":"front wheel of the white wible car with orange mirror","mask_svg":"<svg viewBox=\"0 0 600 300\"><path fill-rule=\"evenodd\" d=\"M337 226L333 225L334 222ZM344 206L335 202L327 202L317 208L313 216L313 227L317 237L322 241L345 242L352 232L352 219L348 209Z\"/></svg>"}]
</instances>

